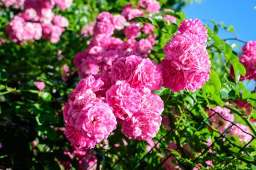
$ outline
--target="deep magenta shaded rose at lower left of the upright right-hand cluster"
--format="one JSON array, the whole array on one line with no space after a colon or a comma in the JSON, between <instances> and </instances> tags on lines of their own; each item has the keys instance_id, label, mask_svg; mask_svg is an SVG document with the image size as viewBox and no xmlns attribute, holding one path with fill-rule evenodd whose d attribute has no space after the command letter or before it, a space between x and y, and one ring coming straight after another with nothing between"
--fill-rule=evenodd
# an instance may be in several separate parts
<instances>
[{"instance_id":1,"label":"deep magenta shaded rose at lower left of the upright right-hand cluster","mask_svg":"<svg viewBox=\"0 0 256 170\"><path fill-rule=\"evenodd\" d=\"M179 71L175 69L175 67L172 67L171 60L162 60L160 66L162 68L164 87L170 88L173 92L185 89L183 71Z\"/></svg>"}]
</instances>

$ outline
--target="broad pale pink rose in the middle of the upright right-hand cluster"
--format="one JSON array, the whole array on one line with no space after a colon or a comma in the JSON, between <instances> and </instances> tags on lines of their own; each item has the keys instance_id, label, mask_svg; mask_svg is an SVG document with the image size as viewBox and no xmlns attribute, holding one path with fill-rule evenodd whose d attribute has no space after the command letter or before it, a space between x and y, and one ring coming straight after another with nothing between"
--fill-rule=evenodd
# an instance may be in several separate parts
<instances>
[{"instance_id":1,"label":"broad pale pink rose in the middle of the upright right-hand cluster","mask_svg":"<svg viewBox=\"0 0 256 170\"><path fill-rule=\"evenodd\" d=\"M177 69L197 71L211 67L205 45L199 44L198 36L190 33L176 34L164 46L166 59L172 60Z\"/></svg>"}]
</instances>

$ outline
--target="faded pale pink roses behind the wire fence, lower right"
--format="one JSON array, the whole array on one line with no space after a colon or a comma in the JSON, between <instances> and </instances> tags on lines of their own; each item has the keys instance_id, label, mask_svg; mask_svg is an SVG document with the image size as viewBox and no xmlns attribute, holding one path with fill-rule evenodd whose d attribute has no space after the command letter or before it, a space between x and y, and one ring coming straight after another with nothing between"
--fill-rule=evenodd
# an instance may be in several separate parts
<instances>
[{"instance_id":1,"label":"faded pale pink roses behind the wire fence, lower right","mask_svg":"<svg viewBox=\"0 0 256 170\"><path fill-rule=\"evenodd\" d=\"M214 111L212 111L212 110L214 110ZM212 110L208 110L209 116L212 116L212 114L214 114L214 112L217 112L218 114L220 114L220 115L214 114L214 116L212 116L210 118L212 125L215 126L220 133L225 132L228 129L228 127L230 127L232 125L231 122L234 122L234 114L230 113L230 110L228 110L227 108L222 108L220 106L216 106ZM227 134L230 136L232 136L232 135L238 136L238 138L241 142L243 142L243 141L249 142L252 138L252 136L249 135L249 134L251 134L251 132L250 132L250 129L248 128L248 126L245 126L245 125L239 124L239 123L236 123L236 126L233 125Z\"/></svg>"}]
</instances>

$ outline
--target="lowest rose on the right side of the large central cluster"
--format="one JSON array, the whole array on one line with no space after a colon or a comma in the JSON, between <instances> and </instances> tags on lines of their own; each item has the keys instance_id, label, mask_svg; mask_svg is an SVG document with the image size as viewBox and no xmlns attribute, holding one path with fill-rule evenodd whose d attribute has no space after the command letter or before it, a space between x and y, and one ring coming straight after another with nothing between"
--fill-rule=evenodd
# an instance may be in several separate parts
<instances>
[{"instance_id":1,"label":"lowest rose on the right side of the large central cluster","mask_svg":"<svg viewBox=\"0 0 256 170\"><path fill-rule=\"evenodd\" d=\"M123 123L122 132L128 138L148 140L158 133L162 118L156 114L137 112Z\"/></svg>"}]
</instances>

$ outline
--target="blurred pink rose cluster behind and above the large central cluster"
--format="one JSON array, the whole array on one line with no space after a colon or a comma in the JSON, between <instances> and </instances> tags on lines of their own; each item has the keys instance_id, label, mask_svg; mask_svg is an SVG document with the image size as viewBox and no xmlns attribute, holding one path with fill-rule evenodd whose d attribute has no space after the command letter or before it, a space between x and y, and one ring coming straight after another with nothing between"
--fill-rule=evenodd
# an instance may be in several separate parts
<instances>
[{"instance_id":1,"label":"blurred pink rose cluster behind and above the large central cluster","mask_svg":"<svg viewBox=\"0 0 256 170\"><path fill-rule=\"evenodd\" d=\"M123 52L137 52L146 58L155 44L154 26L127 21L134 17L146 16L146 13L156 13L159 9L160 5L155 0L139 1L135 8L129 3L123 7L121 15L102 12L96 22L84 26L82 28L84 38L93 37L88 48L75 56L74 65L79 77L96 75L99 71L109 72L112 61ZM169 17L166 19L170 21ZM114 34L115 32L117 34ZM123 41L115 36L120 34L124 34L127 40ZM139 37L142 34L145 35L144 38Z\"/></svg>"}]
</instances>

